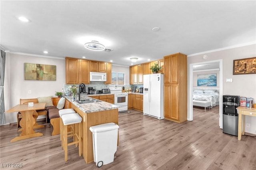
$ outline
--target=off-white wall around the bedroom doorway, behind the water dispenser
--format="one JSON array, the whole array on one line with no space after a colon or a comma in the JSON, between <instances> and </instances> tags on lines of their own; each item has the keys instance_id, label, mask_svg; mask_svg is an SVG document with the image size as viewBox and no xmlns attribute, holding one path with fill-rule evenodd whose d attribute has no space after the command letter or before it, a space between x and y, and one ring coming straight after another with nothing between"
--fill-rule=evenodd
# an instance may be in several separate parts
<instances>
[{"instance_id":1,"label":"off-white wall around the bedroom doorway, behind the water dispenser","mask_svg":"<svg viewBox=\"0 0 256 170\"><path fill-rule=\"evenodd\" d=\"M207 60L202 59L202 56L208 55ZM189 91L189 65L191 63L200 63L222 59L223 61L223 95L239 95L252 97L256 103L256 74L248 75L233 75L233 60L243 59L256 56L256 44L224 49L221 51L201 53L188 57L188 91ZM232 78L233 83L226 83L226 78ZM189 101L188 97L188 103ZM189 109L188 109L189 110ZM245 132L256 134L256 118L246 116L245 123L250 123L250 128L245 127Z\"/></svg>"}]
</instances>

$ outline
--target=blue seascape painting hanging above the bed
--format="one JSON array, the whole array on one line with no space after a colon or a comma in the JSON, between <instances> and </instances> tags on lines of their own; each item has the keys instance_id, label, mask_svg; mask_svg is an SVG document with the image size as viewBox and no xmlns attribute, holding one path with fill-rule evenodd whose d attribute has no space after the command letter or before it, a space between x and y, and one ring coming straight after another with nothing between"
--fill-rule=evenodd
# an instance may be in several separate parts
<instances>
[{"instance_id":1,"label":"blue seascape painting hanging above the bed","mask_svg":"<svg viewBox=\"0 0 256 170\"><path fill-rule=\"evenodd\" d=\"M217 74L198 74L197 86L217 86Z\"/></svg>"}]
</instances>

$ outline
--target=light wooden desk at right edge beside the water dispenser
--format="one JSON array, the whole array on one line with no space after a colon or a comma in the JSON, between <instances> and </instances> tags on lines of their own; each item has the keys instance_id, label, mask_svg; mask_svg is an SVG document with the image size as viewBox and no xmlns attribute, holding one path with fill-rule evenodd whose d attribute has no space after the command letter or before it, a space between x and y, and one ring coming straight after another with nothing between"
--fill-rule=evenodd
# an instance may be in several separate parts
<instances>
[{"instance_id":1,"label":"light wooden desk at right edge beside the water dispenser","mask_svg":"<svg viewBox=\"0 0 256 170\"><path fill-rule=\"evenodd\" d=\"M256 117L256 108L242 107L236 108L238 110L238 140L241 140L242 135L244 135L244 116L254 116Z\"/></svg>"}]
</instances>

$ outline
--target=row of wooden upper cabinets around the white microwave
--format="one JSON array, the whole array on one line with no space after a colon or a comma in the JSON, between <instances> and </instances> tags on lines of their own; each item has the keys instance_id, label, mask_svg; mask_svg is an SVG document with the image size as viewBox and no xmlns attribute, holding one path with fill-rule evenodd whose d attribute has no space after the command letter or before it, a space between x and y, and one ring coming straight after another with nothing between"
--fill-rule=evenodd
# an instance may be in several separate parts
<instances>
[{"instance_id":1,"label":"row of wooden upper cabinets around the white microwave","mask_svg":"<svg viewBox=\"0 0 256 170\"><path fill-rule=\"evenodd\" d=\"M66 57L66 84L90 84L90 71L106 73L104 83L112 83L111 63Z\"/></svg>"}]
</instances>

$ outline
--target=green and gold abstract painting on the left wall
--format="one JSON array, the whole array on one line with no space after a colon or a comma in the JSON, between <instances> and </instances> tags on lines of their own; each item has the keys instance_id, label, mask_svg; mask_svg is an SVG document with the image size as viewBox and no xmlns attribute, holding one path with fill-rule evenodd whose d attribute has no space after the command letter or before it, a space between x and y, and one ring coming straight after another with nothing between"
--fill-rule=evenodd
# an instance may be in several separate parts
<instances>
[{"instance_id":1,"label":"green and gold abstract painting on the left wall","mask_svg":"<svg viewBox=\"0 0 256 170\"><path fill-rule=\"evenodd\" d=\"M24 63L25 80L56 81L56 65Z\"/></svg>"}]
</instances>

